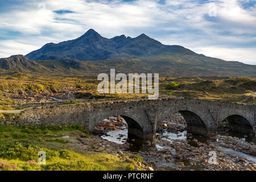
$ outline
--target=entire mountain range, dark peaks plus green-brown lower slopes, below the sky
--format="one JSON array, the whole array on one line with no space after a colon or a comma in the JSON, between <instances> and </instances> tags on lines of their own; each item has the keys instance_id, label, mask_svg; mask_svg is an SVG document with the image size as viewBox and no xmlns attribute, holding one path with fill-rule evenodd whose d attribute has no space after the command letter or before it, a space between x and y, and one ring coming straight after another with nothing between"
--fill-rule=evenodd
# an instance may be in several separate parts
<instances>
[{"instance_id":1,"label":"entire mountain range, dark peaks plus green-brown lower slopes, below the sky","mask_svg":"<svg viewBox=\"0 0 256 182\"><path fill-rule=\"evenodd\" d=\"M256 78L256 65L224 61L197 54L182 46L167 46L147 35L112 39L90 29L80 38L49 43L26 55L0 59L0 73L93 75L109 73L159 73L159 76L229 76Z\"/></svg>"}]
</instances>

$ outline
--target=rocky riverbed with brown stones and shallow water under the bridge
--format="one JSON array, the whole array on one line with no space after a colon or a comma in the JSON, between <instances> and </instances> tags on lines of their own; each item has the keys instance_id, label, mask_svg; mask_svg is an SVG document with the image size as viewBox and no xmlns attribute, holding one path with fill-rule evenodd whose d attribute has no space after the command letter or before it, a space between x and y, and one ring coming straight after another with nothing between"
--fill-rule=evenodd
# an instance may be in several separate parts
<instances>
[{"instance_id":1,"label":"rocky riverbed with brown stones and shallow water under the bridge","mask_svg":"<svg viewBox=\"0 0 256 182\"><path fill-rule=\"evenodd\" d=\"M96 127L94 133L101 137L80 140L85 146L90 144L111 154L139 154L144 167L155 170L256 170L253 142L225 135L200 137L187 134L186 129L184 118L174 113L160 123L154 141L128 140L127 124L115 116Z\"/></svg>"}]
</instances>

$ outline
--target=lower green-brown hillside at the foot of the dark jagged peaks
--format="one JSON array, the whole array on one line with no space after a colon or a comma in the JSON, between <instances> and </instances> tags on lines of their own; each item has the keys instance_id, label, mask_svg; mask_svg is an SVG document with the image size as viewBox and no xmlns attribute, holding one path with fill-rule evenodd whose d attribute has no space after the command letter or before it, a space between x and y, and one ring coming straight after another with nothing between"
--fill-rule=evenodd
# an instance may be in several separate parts
<instances>
[{"instance_id":1,"label":"lower green-brown hillside at the foot of the dark jagged peaks","mask_svg":"<svg viewBox=\"0 0 256 182\"><path fill-rule=\"evenodd\" d=\"M224 63L225 64L224 64ZM109 73L111 68L121 73L159 73L160 77L230 76L256 77L256 66L195 56L151 56L140 59L80 61L75 59L29 60L22 55L0 59L0 73L22 72L41 75L92 75Z\"/></svg>"}]
</instances>

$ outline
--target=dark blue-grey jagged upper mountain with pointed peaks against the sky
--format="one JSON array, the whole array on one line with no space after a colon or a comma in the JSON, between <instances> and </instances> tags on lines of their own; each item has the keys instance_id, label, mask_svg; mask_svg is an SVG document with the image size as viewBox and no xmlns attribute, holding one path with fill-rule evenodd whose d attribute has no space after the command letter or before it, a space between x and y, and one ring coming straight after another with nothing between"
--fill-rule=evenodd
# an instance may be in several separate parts
<instances>
[{"instance_id":1,"label":"dark blue-grey jagged upper mountain with pointed peaks against the sky","mask_svg":"<svg viewBox=\"0 0 256 182\"><path fill-rule=\"evenodd\" d=\"M139 57L152 55L196 55L182 46L166 46L145 34L137 38L125 35L112 39L102 37L93 29L75 40L68 40L59 44L48 43L42 48L28 53L30 60L105 60L118 57Z\"/></svg>"}]
</instances>

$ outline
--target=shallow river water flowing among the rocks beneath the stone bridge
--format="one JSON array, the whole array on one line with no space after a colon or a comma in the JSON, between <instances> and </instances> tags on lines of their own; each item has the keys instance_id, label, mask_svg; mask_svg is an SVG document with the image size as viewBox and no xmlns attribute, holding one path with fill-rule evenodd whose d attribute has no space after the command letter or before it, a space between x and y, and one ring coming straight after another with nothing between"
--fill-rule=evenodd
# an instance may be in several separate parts
<instances>
[{"instance_id":1,"label":"shallow river water flowing among the rocks beneath the stone bridge","mask_svg":"<svg viewBox=\"0 0 256 182\"><path fill-rule=\"evenodd\" d=\"M179 116L180 117L180 116ZM115 117L112 117L115 118ZM104 121L109 121L110 119L105 119ZM113 120L112 120L113 121ZM125 125L123 127L121 127L118 130L114 130L114 131L109 131L106 135L101 136L102 138L109 140L110 142L115 142L118 144L124 144L127 142L127 137L128 137L128 129L127 129L127 123L125 122L125 120L122 118L122 122L125 123ZM174 127L179 126L182 127L181 125L183 125L182 123L180 124L179 122L171 122L171 121L163 121L164 124L168 124L168 125L173 125ZM186 127L186 126L184 126ZM156 133L156 139L155 142L152 142L151 144L147 144L146 140L143 139L139 139L139 138L134 138L134 139L130 139L128 142L132 144L132 146L129 148L129 151L133 151L133 152L138 152L138 154L143 156L144 160L147 160L147 162L151 162L151 160L154 160L154 166L155 168L173 168L175 167L181 167L181 166L185 166L183 167L185 170L200 170L201 168L197 165L191 165L189 164L188 160L161 160L161 158L148 158L147 155L143 155L145 152L150 151L150 150L157 150L157 151L161 151L161 150L165 150L168 149L169 151L172 152L172 154L176 154L176 148L174 147L170 147L170 146L164 146L163 144L161 144L162 142L159 142L159 140L167 140L170 143L173 142L182 142L182 141L187 141L191 146L193 147L199 147L197 144L197 141L201 142L201 143L205 143L205 144L209 144L210 142L213 142L214 145L216 146L216 150L218 151L222 151L224 152L225 155L230 155L230 154L234 154L236 155L237 158L243 158L247 160L247 164L254 164L256 165L256 157L253 155L249 155L249 154L245 154L243 152L240 151L235 151L232 148L226 148L226 147L222 147L220 146L220 142L218 141L218 139L222 139L225 135L228 135L228 133L224 133L222 132L221 134L218 135L216 140L213 139L209 139L207 137L203 137L203 136L194 136L193 135L193 139L190 139L187 137L187 131L178 131L176 133L171 133L170 131L167 131L166 129L163 129L163 131L161 133ZM235 136L235 134L232 134L233 137ZM238 136L238 138L240 138L241 140L247 140L247 142L255 142L255 138L254 137L246 137L246 138L242 138L243 135L237 134L236 137ZM255 144L255 143L254 143ZM202 154L204 155L204 154ZM181 165L182 164L182 165Z\"/></svg>"}]
</instances>

